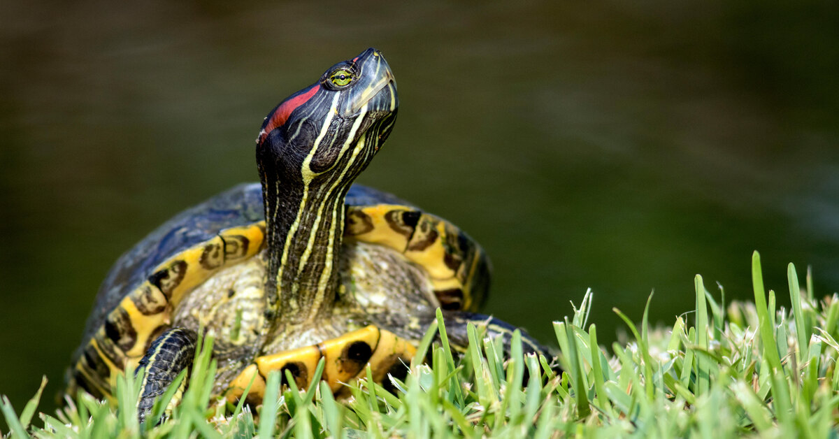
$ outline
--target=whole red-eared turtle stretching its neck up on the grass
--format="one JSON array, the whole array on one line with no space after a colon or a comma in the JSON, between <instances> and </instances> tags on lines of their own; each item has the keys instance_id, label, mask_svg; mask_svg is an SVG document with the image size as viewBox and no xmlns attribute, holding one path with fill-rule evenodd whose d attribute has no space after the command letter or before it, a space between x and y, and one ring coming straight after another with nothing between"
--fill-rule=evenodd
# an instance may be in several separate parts
<instances>
[{"instance_id":1,"label":"whole red-eared turtle stretching its neck up on the grass","mask_svg":"<svg viewBox=\"0 0 839 439\"><path fill-rule=\"evenodd\" d=\"M367 365L393 390L388 376L404 379L438 307L455 348L466 347L470 322L508 343L515 327L476 313L490 276L481 246L441 217L353 183L398 107L393 71L372 48L274 107L256 140L259 183L181 212L117 259L66 392L113 400L117 375L136 369L143 421L189 372L201 333L215 337L214 395L257 402L269 372L288 370L305 387L320 358L336 395ZM522 339L526 352L548 354Z\"/></svg>"}]
</instances>

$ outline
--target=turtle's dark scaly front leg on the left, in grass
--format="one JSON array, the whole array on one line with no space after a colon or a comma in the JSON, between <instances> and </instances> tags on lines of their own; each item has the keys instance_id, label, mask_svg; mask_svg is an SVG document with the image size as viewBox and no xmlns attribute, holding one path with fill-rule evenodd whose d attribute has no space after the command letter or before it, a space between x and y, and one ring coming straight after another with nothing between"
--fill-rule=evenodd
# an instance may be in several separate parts
<instances>
[{"instance_id":1,"label":"turtle's dark scaly front leg on the left, in grass","mask_svg":"<svg viewBox=\"0 0 839 439\"><path fill-rule=\"evenodd\" d=\"M189 370L195 358L195 339L195 332L183 327L173 327L155 338L149 350L143 355L137 369L137 373L141 371L143 373L140 398L137 401L140 423L143 423L146 416L151 414L154 400L164 394L180 371L185 368ZM180 383L180 389L166 407L167 413L170 413L172 408L180 402L186 389L186 381L184 379Z\"/></svg>"}]
</instances>

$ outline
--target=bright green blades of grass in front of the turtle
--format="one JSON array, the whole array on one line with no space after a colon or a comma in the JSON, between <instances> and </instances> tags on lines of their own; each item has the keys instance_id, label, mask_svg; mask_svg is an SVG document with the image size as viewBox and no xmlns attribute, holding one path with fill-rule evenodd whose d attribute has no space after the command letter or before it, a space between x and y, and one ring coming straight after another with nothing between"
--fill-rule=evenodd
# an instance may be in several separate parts
<instances>
[{"instance_id":1,"label":"bright green blades of grass in front of the turtle","mask_svg":"<svg viewBox=\"0 0 839 439\"><path fill-rule=\"evenodd\" d=\"M585 327L586 293L573 316L554 323L560 375L546 371L545 358L523 355L518 335L504 358L500 341L475 327L468 352L453 358L440 319L411 374L394 383L399 395L369 379L353 384L345 402L316 380L280 393L272 374L255 419L248 405L211 404L215 363L206 340L182 403L158 426L171 395L138 425L133 379L117 385L118 410L79 395L33 423L40 392L20 415L5 398L0 410L15 437L839 437L839 296L817 301L809 274L804 291L792 264L788 274L791 310L776 309L774 291L763 290L758 253L753 303L726 304L722 289L711 295L697 275L690 318L653 329L646 311L636 327L615 310L632 341L611 349L598 345L594 325ZM432 343L437 332L441 342ZM426 353L431 361L421 363Z\"/></svg>"}]
</instances>

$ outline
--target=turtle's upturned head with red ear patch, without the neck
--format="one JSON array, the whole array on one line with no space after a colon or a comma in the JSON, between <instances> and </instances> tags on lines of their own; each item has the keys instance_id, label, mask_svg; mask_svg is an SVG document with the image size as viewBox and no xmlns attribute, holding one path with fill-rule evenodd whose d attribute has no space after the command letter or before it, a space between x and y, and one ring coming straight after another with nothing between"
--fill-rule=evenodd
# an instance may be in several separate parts
<instances>
[{"instance_id":1,"label":"turtle's upturned head with red ear patch, without the neck","mask_svg":"<svg viewBox=\"0 0 839 439\"><path fill-rule=\"evenodd\" d=\"M333 65L265 118L257 138L263 179L274 168L286 183L349 187L388 138L397 107L393 71L378 50Z\"/></svg>"}]
</instances>

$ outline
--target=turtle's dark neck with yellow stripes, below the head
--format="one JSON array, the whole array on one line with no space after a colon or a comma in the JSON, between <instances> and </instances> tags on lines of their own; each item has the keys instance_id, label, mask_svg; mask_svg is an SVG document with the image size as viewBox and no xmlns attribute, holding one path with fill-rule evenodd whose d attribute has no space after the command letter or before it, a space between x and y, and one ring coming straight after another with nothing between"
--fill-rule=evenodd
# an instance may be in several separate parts
<instances>
[{"instance_id":1,"label":"turtle's dark neck with yellow stripes, below the head","mask_svg":"<svg viewBox=\"0 0 839 439\"><path fill-rule=\"evenodd\" d=\"M274 321L298 325L328 316L337 288L350 183L308 182L262 170L266 220L266 295Z\"/></svg>"}]
</instances>

